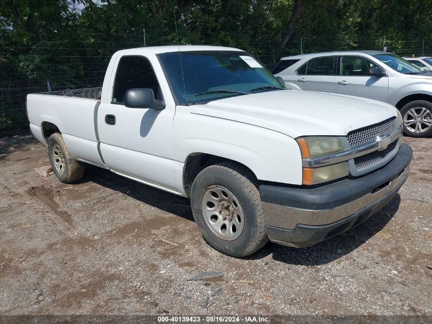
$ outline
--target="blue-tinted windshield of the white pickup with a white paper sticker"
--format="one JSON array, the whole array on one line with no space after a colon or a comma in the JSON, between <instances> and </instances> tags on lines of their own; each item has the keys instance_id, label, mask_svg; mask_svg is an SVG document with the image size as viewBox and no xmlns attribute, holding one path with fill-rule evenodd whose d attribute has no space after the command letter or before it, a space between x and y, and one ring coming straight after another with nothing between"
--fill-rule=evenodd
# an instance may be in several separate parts
<instances>
[{"instance_id":1,"label":"blue-tinted windshield of the white pickup with a white paper sticker","mask_svg":"<svg viewBox=\"0 0 432 324\"><path fill-rule=\"evenodd\" d=\"M266 68L245 52L172 52L158 56L179 104L285 90Z\"/></svg>"}]
</instances>

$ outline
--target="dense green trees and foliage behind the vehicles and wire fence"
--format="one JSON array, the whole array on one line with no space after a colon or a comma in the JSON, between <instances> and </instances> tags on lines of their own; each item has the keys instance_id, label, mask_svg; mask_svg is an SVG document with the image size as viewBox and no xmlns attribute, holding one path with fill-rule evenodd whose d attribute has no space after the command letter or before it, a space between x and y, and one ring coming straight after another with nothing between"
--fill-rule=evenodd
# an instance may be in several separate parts
<instances>
[{"instance_id":1,"label":"dense green trees and foliage behind the vehicles and wire fence","mask_svg":"<svg viewBox=\"0 0 432 324\"><path fill-rule=\"evenodd\" d=\"M432 54L431 16L432 0L0 0L1 132L47 80L101 84L119 49L230 46L272 67L301 50L379 50L385 36L396 54Z\"/></svg>"}]
</instances>

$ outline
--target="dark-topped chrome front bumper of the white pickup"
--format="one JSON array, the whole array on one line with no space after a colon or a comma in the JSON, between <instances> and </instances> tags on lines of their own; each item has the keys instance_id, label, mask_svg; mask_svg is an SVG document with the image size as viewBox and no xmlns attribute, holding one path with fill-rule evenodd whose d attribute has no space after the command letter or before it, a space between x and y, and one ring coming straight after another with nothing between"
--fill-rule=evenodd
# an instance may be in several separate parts
<instances>
[{"instance_id":1,"label":"dark-topped chrome front bumper of the white pickup","mask_svg":"<svg viewBox=\"0 0 432 324\"><path fill-rule=\"evenodd\" d=\"M412 156L412 148L402 144L381 169L313 189L261 185L270 241L307 247L366 221L396 195L408 177Z\"/></svg>"}]
</instances>

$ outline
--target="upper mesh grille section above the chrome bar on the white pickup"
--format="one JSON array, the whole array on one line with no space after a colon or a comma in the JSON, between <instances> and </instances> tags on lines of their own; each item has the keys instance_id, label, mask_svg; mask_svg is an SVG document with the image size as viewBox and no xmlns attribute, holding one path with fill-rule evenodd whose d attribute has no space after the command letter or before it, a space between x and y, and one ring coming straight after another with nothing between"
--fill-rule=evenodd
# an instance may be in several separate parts
<instances>
[{"instance_id":1,"label":"upper mesh grille section above the chrome bar on the white pickup","mask_svg":"<svg viewBox=\"0 0 432 324\"><path fill-rule=\"evenodd\" d=\"M374 125L355 129L348 133L348 142L354 147L375 140L377 135L387 135L396 129L395 119L396 117L392 117Z\"/></svg>"}]
</instances>

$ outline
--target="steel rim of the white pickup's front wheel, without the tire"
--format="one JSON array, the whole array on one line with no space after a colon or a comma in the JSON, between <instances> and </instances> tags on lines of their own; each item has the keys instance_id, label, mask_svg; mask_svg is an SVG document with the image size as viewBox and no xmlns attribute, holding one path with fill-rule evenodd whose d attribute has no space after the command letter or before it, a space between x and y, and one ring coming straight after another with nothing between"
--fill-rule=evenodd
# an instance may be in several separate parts
<instances>
[{"instance_id":1,"label":"steel rim of the white pickup's front wheel, without the tire","mask_svg":"<svg viewBox=\"0 0 432 324\"><path fill-rule=\"evenodd\" d=\"M201 210L209 228L222 240L234 241L243 232L243 210L230 190L222 186L207 188Z\"/></svg>"}]
</instances>

